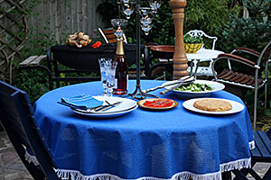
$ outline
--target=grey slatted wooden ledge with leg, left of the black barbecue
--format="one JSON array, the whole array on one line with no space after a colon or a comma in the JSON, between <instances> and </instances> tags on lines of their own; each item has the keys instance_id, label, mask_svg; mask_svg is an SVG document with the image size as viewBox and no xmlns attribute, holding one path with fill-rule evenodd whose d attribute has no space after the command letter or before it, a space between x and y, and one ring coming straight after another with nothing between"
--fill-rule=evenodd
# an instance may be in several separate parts
<instances>
[{"instance_id":1,"label":"grey slatted wooden ledge with leg, left of the black barbecue","mask_svg":"<svg viewBox=\"0 0 271 180\"><path fill-rule=\"evenodd\" d=\"M25 68L42 68L43 70L46 71L46 73L49 76L49 89L52 90L53 85L52 85L52 76L51 76L51 67L46 67L42 65L43 62L47 60L46 55L35 55L35 56L30 56L26 59L23 60L19 64L20 69L25 69Z\"/></svg>"}]
</instances>

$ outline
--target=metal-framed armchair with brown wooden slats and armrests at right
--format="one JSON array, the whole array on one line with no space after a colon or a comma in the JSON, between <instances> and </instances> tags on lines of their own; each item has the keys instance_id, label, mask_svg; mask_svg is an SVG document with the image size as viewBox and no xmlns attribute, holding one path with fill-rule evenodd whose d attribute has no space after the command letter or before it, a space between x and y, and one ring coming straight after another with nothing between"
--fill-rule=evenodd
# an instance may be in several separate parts
<instances>
[{"instance_id":1,"label":"metal-framed armchair with brown wooden slats and armrests at right","mask_svg":"<svg viewBox=\"0 0 271 180\"><path fill-rule=\"evenodd\" d=\"M241 53L241 56L237 55L237 53ZM265 86L265 106L267 103L268 63L271 62L270 55L271 40L261 52L239 47L234 49L230 54L220 54L219 58L215 59L212 63L212 72L216 81L254 90L254 130L256 130L257 122L257 91L263 86ZM217 73L215 68L222 64L222 60L228 61L228 67ZM238 72L236 69L238 69ZM264 77L261 76L261 73L264 73Z\"/></svg>"}]
</instances>

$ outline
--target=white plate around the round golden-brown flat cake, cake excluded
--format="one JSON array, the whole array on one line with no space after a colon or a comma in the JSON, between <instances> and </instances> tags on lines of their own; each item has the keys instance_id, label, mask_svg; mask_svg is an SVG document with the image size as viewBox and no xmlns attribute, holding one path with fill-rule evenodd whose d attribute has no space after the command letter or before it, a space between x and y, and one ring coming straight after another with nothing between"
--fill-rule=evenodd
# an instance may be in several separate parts
<instances>
[{"instance_id":1,"label":"white plate around the round golden-brown flat cake, cake excluded","mask_svg":"<svg viewBox=\"0 0 271 180\"><path fill-rule=\"evenodd\" d=\"M220 99L220 100L223 100L223 101L227 101L232 105L232 108L231 108L231 110L226 111L226 112L209 112L209 111L200 110L200 109L195 108L193 106L193 104L196 101L201 100L201 99ZM228 99L221 99L221 98L195 98L195 99L190 99L190 100L187 100L187 101L183 102L182 105L183 105L183 107L185 109L188 109L188 110L190 110L192 112L201 112L201 113L210 113L210 114L236 113L236 112L243 111L243 109L245 108L245 106L242 103L238 103L238 102L231 101L231 100L228 100Z\"/></svg>"}]
</instances>

